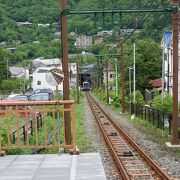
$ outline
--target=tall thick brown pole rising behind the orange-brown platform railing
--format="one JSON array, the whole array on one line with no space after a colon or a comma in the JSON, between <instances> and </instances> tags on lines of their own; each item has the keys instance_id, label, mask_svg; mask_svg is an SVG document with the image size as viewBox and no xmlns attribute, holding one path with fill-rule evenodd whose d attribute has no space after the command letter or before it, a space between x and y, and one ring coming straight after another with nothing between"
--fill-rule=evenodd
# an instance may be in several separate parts
<instances>
[{"instance_id":1,"label":"tall thick brown pole rising behind the orange-brown platform railing","mask_svg":"<svg viewBox=\"0 0 180 180\"><path fill-rule=\"evenodd\" d=\"M69 70L68 70L68 27L67 16L63 13L67 9L67 0L61 0L61 44L62 44L62 68L64 72L63 99L69 100ZM68 108L66 105L65 108ZM65 143L71 143L70 112L64 112Z\"/></svg>"}]
</instances>

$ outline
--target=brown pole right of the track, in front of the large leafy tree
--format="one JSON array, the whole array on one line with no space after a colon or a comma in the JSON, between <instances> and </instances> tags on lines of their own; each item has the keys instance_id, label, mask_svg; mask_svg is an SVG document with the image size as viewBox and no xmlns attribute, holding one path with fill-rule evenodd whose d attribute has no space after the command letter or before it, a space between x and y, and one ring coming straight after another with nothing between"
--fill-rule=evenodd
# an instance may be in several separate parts
<instances>
[{"instance_id":1,"label":"brown pole right of the track, in front of the large leafy tree","mask_svg":"<svg viewBox=\"0 0 180 180\"><path fill-rule=\"evenodd\" d=\"M122 86L122 113L125 113L126 107L125 107L125 94L124 94L124 45L121 45L121 86Z\"/></svg>"}]
</instances>

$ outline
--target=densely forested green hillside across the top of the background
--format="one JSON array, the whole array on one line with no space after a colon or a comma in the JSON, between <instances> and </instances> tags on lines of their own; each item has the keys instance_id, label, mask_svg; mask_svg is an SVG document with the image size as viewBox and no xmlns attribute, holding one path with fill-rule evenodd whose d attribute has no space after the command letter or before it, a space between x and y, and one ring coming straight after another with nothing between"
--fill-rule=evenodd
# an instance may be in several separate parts
<instances>
[{"instance_id":1,"label":"densely forested green hillside across the top of the background","mask_svg":"<svg viewBox=\"0 0 180 180\"><path fill-rule=\"evenodd\" d=\"M143 9L169 7L169 0L70 0L68 8L84 9ZM105 15L70 15L68 16L69 32L95 35L99 30L141 29L140 34L132 36L138 39L153 38L161 40L164 29L171 27L171 16L165 13L132 13ZM19 26L17 22L32 23L31 27ZM143 23L142 23L143 22ZM39 56L47 58L60 57L60 41L54 41L58 29L53 25L60 24L59 0L0 0L0 42L6 42L5 48L17 47L10 57L10 63L16 64ZM48 28L38 24L49 24ZM116 40L116 38L111 39ZM34 44L34 42L37 42ZM70 52L73 53L74 39L70 38Z\"/></svg>"}]
</instances>

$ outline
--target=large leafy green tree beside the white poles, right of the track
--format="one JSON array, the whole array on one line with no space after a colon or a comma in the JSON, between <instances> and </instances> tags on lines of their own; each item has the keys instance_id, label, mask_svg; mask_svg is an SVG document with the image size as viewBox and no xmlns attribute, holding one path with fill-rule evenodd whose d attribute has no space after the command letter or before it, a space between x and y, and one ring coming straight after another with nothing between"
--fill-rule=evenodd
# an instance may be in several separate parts
<instances>
[{"instance_id":1,"label":"large leafy green tree beside the white poles, right of the track","mask_svg":"<svg viewBox=\"0 0 180 180\"><path fill-rule=\"evenodd\" d=\"M143 94L151 88L149 81L161 77L162 50L153 39L136 41L136 88ZM128 44L125 55L125 80L129 81L128 67L133 67L133 46ZM128 88L127 88L128 89Z\"/></svg>"}]
</instances>

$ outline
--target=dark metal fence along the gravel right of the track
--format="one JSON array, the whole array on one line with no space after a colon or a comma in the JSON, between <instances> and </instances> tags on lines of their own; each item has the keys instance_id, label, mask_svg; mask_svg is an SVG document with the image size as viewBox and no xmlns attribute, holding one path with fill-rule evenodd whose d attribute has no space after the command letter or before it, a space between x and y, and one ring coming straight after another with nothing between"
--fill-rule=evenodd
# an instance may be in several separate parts
<instances>
[{"instance_id":1,"label":"dark metal fence along the gravel right of the track","mask_svg":"<svg viewBox=\"0 0 180 180\"><path fill-rule=\"evenodd\" d=\"M127 107L132 115L134 114L136 117L151 122L159 129L168 129L169 134L171 134L172 113L166 113L154 107L134 105L133 103Z\"/></svg>"}]
</instances>

